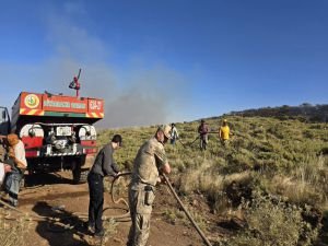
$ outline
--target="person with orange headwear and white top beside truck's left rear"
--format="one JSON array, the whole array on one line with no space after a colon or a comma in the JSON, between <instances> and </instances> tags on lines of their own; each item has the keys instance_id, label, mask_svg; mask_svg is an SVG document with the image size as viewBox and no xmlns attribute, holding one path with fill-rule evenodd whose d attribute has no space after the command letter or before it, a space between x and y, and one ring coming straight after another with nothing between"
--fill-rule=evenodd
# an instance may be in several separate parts
<instances>
[{"instance_id":1,"label":"person with orange headwear and white top beside truck's left rear","mask_svg":"<svg viewBox=\"0 0 328 246\"><path fill-rule=\"evenodd\" d=\"M5 177L5 191L9 195L10 203L13 207L19 204L20 184L24 177L27 162L25 157L24 143L19 139L15 133L10 133L7 137L9 150L8 160L4 161L11 165L11 172Z\"/></svg>"}]
</instances>

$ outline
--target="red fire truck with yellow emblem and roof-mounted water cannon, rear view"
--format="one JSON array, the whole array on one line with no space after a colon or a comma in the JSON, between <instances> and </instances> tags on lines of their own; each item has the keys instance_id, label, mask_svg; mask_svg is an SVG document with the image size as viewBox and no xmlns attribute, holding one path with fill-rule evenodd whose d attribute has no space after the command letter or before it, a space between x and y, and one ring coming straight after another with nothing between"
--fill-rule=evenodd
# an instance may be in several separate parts
<instances>
[{"instance_id":1,"label":"red fire truck with yellow emblem and roof-mounted water cannon, rear view","mask_svg":"<svg viewBox=\"0 0 328 246\"><path fill-rule=\"evenodd\" d=\"M80 97L75 77L70 87L77 96L21 92L11 119L0 107L0 134L14 132L23 141L28 174L70 169L74 183L84 183L97 153L93 124L104 118L104 101Z\"/></svg>"}]
</instances>

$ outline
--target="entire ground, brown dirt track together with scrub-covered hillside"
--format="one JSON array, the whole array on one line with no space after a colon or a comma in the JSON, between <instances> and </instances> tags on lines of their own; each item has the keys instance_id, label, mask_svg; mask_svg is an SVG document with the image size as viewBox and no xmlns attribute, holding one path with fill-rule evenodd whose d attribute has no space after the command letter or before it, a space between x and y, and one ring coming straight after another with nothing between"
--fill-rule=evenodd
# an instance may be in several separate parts
<instances>
[{"instance_id":1,"label":"entire ground, brown dirt track together with scrub-covered hillside","mask_svg":"<svg viewBox=\"0 0 328 246\"><path fill-rule=\"evenodd\" d=\"M221 117L207 119L213 132L207 151L198 147L198 121L176 124L180 140L176 145L165 145L173 167L171 183L211 244L328 245L327 122L239 115L225 118L233 133L226 148L215 133ZM124 148L115 153L115 159L121 169L128 172L139 147L155 130L156 126L102 130L98 144L108 142L114 133L122 134ZM62 215L85 213L87 186L71 185L67 175L42 176L43 179L32 179L34 183L27 180L27 188L20 195L20 209L24 214L54 216L54 208L62 206ZM46 185L38 187L45 180ZM115 194L117 198L126 198L126 191L127 180L122 179ZM109 195L105 200L106 207L116 207ZM116 212L122 211L118 208ZM15 227L10 229L10 221L3 219L9 216L7 213L0 216L1 238L10 235L9 232L19 232L15 235L27 246L94 245L92 237L79 226L65 231L71 221L62 222L62 231L56 229L60 234L52 233L54 229L45 221L28 226L14 224ZM75 225L81 224L82 219L75 218ZM129 224L110 222L106 226L109 239L102 245L125 245ZM201 245L200 237L164 185L157 190L150 244Z\"/></svg>"}]
</instances>

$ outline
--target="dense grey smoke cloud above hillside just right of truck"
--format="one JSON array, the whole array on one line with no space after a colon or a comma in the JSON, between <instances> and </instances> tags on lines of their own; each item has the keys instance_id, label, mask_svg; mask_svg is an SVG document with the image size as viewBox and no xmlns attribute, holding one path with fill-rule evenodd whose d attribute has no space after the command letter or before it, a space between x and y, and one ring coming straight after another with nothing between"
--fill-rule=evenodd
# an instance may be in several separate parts
<instances>
[{"instance_id":1,"label":"dense grey smoke cloud above hillside just right of truck","mask_svg":"<svg viewBox=\"0 0 328 246\"><path fill-rule=\"evenodd\" d=\"M131 71L129 80L129 86L107 99L102 126L144 126L172 121L169 107L176 104L179 89L185 84L179 75L164 68L154 68Z\"/></svg>"}]
</instances>

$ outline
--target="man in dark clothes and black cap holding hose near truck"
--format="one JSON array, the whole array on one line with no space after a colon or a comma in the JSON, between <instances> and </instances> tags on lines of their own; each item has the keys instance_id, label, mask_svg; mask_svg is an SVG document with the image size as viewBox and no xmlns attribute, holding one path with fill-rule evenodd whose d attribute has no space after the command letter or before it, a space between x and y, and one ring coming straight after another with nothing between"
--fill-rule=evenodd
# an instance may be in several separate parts
<instances>
[{"instance_id":1,"label":"man in dark clothes and black cap holding hose near truck","mask_svg":"<svg viewBox=\"0 0 328 246\"><path fill-rule=\"evenodd\" d=\"M89 230L94 236L104 236L103 206L104 206L104 176L117 176L119 174L113 154L121 147L122 138L115 134L112 142L106 144L95 157L94 164L87 175L90 203L89 203Z\"/></svg>"}]
</instances>

